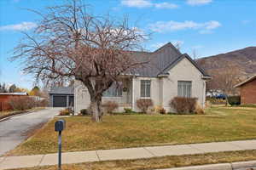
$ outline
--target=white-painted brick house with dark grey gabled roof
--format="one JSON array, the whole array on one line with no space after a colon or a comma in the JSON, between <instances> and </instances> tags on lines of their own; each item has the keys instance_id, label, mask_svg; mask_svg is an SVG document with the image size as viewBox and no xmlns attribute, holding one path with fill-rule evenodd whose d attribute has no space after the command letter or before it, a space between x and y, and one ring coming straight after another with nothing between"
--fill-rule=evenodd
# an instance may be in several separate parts
<instances>
[{"instance_id":1,"label":"white-painted brick house with dark grey gabled roof","mask_svg":"<svg viewBox=\"0 0 256 170\"><path fill-rule=\"evenodd\" d=\"M137 99L152 99L166 111L176 96L195 97L202 107L206 102L206 82L211 77L203 71L188 54L181 54L172 43L167 43L153 53L131 52L136 59L149 60L149 64L132 74L119 77L115 84L103 94L102 102L113 100L119 103L119 111L131 108L139 111ZM90 94L82 82L74 83L74 111L78 113L90 105Z\"/></svg>"}]
</instances>

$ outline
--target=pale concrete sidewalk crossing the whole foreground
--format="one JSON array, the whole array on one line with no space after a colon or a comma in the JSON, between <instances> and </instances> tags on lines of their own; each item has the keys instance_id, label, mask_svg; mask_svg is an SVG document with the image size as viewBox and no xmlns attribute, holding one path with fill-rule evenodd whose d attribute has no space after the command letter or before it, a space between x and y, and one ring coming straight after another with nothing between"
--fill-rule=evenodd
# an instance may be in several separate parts
<instances>
[{"instance_id":1,"label":"pale concrete sidewalk crossing the whole foreground","mask_svg":"<svg viewBox=\"0 0 256 170\"><path fill-rule=\"evenodd\" d=\"M256 150L256 140L66 152L62 154L62 163L70 164L88 161L129 160L157 156L181 156L235 150ZM0 169L56 164L57 154L0 157Z\"/></svg>"}]
</instances>

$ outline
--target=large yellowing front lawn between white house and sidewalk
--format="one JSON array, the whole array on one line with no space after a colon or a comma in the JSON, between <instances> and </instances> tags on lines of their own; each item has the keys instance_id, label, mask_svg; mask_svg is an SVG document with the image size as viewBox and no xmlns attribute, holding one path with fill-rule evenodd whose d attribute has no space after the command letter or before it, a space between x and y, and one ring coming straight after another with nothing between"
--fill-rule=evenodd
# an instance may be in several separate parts
<instances>
[{"instance_id":1,"label":"large yellowing front lawn between white house and sidewalk","mask_svg":"<svg viewBox=\"0 0 256 170\"><path fill-rule=\"evenodd\" d=\"M189 144L256 138L256 108L212 107L206 115L104 116L102 123L88 116L66 118L62 150L101 150L158 144ZM56 119L55 119L56 120ZM9 155L57 151L55 120Z\"/></svg>"}]
</instances>

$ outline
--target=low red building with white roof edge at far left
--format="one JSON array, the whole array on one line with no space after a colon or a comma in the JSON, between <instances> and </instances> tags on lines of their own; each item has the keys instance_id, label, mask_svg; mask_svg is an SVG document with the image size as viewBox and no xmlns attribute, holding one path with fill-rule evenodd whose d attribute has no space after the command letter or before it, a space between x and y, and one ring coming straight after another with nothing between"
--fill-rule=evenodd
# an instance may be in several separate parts
<instances>
[{"instance_id":1,"label":"low red building with white roof edge at far left","mask_svg":"<svg viewBox=\"0 0 256 170\"><path fill-rule=\"evenodd\" d=\"M11 99L12 97L22 98L27 95L28 94L26 92L0 93L0 111L7 111L12 109L11 105L9 105L9 99Z\"/></svg>"}]
</instances>

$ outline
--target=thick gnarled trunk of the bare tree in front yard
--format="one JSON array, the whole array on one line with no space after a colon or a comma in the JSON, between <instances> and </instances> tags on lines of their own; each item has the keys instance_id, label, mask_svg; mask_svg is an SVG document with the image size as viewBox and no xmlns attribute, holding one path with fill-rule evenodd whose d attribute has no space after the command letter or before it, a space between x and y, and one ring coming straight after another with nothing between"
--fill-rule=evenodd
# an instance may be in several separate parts
<instances>
[{"instance_id":1,"label":"thick gnarled trunk of the bare tree in front yard","mask_svg":"<svg viewBox=\"0 0 256 170\"><path fill-rule=\"evenodd\" d=\"M102 97L90 99L90 111L93 122L102 122Z\"/></svg>"}]
</instances>

